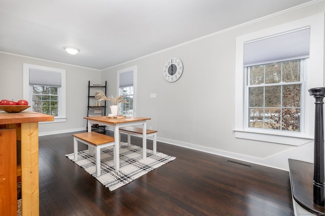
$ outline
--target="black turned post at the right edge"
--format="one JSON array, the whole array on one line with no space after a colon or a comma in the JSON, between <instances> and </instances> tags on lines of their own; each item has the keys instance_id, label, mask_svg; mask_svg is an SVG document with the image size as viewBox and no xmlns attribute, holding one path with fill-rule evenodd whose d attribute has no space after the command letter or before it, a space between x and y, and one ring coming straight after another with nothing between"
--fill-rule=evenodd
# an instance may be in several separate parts
<instances>
[{"instance_id":1,"label":"black turned post at the right edge","mask_svg":"<svg viewBox=\"0 0 325 216\"><path fill-rule=\"evenodd\" d=\"M316 205L324 206L323 98L325 97L325 88L313 88L308 91L315 98L313 201Z\"/></svg>"}]
</instances>

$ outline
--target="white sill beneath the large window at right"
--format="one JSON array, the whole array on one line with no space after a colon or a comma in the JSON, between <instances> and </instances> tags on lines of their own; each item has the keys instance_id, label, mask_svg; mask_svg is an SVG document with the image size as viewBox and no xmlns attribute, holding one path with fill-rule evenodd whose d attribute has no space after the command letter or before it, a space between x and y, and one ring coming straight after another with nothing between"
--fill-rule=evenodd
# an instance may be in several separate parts
<instances>
[{"instance_id":1,"label":"white sill beneath the large window at right","mask_svg":"<svg viewBox=\"0 0 325 216\"><path fill-rule=\"evenodd\" d=\"M284 144L290 146L301 146L306 143L312 142L314 138L305 136L295 136L294 134L281 134L281 133L265 133L265 132L257 132L249 131L249 130L239 130L234 129L235 131L235 138L240 139L247 139L247 140L255 140L255 141L263 141L268 143L277 143L277 144Z\"/></svg>"}]
</instances>

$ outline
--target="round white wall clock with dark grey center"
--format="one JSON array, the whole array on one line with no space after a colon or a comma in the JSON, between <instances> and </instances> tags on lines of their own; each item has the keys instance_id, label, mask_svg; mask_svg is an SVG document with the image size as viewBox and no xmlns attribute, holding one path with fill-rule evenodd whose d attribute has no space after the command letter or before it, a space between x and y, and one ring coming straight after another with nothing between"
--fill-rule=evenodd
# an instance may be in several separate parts
<instances>
[{"instance_id":1,"label":"round white wall clock with dark grey center","mask_svg":"<svg viewBox=\"0 0 325 216\"><path fill-rule=\"evenodd\" d=\"M163 68L163 76L169 82L177 81L183 73L183 63L179 58L173 57L167 60Z\"/></svg>"}]
</instances>

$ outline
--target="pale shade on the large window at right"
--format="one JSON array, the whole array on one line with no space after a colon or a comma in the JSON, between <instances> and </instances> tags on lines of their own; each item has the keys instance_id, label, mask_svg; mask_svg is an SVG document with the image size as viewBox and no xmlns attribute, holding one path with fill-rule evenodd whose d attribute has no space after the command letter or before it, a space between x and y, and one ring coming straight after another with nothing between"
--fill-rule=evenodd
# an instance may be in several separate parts
<instances>
[{"instance_id":1,"label":"pale shade on the large window at right","mask_svg":"<svg viewBox=\"0 0 325 216\"><path fill-rule=\"evenodd\" d=\"M244 45L244 66L309 56L309 28Z\"/></svg>"}]
</instances>

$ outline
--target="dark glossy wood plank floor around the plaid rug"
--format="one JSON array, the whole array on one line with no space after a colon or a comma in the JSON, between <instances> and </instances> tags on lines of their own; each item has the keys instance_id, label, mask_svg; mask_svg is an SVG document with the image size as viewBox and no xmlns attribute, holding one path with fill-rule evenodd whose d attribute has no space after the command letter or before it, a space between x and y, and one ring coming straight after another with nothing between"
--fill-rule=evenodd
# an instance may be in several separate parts
<instances>
[{"instance_id":1,"label":"dark glossy wood plank floor around the plaid rug","mask_svg":"<svg viewBox=\"0 0 325 216\"><path fill-rule=\"evenodd\" d=\"M159 142L176 159L110 192L64 156L72 134L39 139L40 215L294 215L287 171Z\"/></svg>"}]
</instances>

